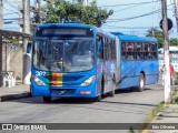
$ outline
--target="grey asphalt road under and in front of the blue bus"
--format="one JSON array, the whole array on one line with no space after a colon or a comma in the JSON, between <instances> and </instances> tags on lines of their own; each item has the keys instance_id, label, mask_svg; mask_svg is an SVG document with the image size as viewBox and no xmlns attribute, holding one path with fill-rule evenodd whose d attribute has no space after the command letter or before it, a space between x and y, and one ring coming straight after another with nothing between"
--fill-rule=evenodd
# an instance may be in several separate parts
<instances>
[{"instance_id":1,"label":"grey asphalt road under and in front of the blue bus","mask_svg":"<svg viewBox=\"0 0 178 133\"><path fill-rule=\"evenodd\" d=\"M152 108L164 101L164 88L160 82L147 85L144 92L117 91L116 93L115 98L105 96L101 102L90 102L86 99L53 99L51 103L43 103L41 98L0 102L0 123L144 123ZM9 132L12 131L0 131L0 133ZM43 133L43 131L36 132ZM128 130L47 132L128 133Z\"/></svg>"}]
</instances>

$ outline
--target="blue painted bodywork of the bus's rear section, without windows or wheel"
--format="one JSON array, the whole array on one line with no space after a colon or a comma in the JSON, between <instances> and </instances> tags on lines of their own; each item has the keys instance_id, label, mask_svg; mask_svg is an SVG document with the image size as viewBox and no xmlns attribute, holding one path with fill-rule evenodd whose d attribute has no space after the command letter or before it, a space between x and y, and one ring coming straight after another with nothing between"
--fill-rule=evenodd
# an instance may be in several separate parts
<instances>
[{"instance_id":1,"label":"blue painted bodywork of the bus's rear section, without windows or wheel","mask_svg":"<svg viewBox=\"0 0 178 133\"><path fill-rule=\"evenodd\" d=\"M137 35L125 35L120 33L113 33L119 38L119 47L121 51L122 42L145 42L145 43L156 43L155 38L144 38ZM158 54L157 54L158 57ZM155 84L158 82L158 58L156 59L142 59L142 60L122 60L122 51L120 52L120 85L119 89L128 89L131 86L139 86L140 73L145 75L145 84Z\"/></svg>"}]
</instances>

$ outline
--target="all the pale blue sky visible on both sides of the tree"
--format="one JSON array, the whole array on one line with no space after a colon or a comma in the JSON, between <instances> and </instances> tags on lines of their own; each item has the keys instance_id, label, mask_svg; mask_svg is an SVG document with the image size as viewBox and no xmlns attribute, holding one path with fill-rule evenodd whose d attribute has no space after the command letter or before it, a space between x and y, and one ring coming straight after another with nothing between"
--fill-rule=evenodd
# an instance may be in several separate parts
<instances>
[{"instance_id":1,"label":"all the pale blue sky visible on both sides of the tree","mask_svg":"<svg viewBox=\"0 0 178 133\"><path fill-rule=\"evenodd\" d=\"M20 12L18 10L18 4L20 0L3 1L3 18L19 18ZM92 0L88 1L90 3ZM176 19L174 13L174 6L171 4L172 1L174 0L167 0L168 18L174 22L174 28L169 31L169 37L177 38ZM31 0L30 4L34 6L34 0ZM118 31L126 34L146 35L147 30L151 28L157 28L160 30L159 22L162 18L160 0L97 0L97 4L102 9L113 10L113 14L109 17L109 19L102 25L105 31ZM14 20L10 24L4 24L3 29L19 31L20 28L18 20Z\"/></svg>"}]
</instances>

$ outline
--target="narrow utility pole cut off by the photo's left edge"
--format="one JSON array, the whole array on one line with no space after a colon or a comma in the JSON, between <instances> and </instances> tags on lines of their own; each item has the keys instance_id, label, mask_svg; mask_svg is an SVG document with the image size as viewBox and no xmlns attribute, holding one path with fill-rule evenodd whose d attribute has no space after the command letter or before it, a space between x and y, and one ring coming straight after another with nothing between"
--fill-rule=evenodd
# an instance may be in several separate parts
<instances>
[{"instance_id":1,"label":"narrow utility pole cut off by the photo's left edge","mask_svg":"<svg viewBox=\"0 0 178 133\"><path fill-rule=\"evenodd\" d=\"M2 71L2 24L3 23L3 3L0 0L0 71ZM0 86L2 85L2 75L0 75Z\"/></svg>"}]
</instances>

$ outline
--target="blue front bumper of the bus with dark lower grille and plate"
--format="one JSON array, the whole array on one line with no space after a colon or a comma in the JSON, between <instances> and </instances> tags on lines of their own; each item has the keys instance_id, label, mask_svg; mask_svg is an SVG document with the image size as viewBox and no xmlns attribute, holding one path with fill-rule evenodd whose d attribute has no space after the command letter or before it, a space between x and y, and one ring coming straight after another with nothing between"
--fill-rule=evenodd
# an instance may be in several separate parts
<instances>
[{"instance_id":1,"label":"blue front bumper of the bus with dark lower grille and plate","mask_svg":"<svg viewBox=\"0 0 178 133\"><path fill-rule=\"evenodd\" d=\"M53 96L53 98L96 98L96 82L89 86L39 86L31 83L31 94L33 96Z\"/></svg>"}]
</instances>

